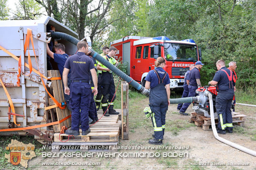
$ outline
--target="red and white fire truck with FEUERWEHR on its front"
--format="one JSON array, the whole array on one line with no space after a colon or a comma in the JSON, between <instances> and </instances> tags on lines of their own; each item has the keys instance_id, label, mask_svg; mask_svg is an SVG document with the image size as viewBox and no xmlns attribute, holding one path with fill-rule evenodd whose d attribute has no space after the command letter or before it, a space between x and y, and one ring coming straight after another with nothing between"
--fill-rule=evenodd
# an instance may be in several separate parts
<instances>
[{"instance_id":1,"label":"red and white fire truck with FEUERWEHR on its front","mask_svg":"<svg viewBox=\"0 0 256 170\"><path fill-rule=\"evenodd\" d=\"M166 60L164 70L169 74L173 91L182 89L190 64L202 59L201 49L192 39L174 41L166 36L126 36L112 41L110 46L117 48L115 59L128 64L127 74L144 87L145 78L155 68L154 62L159 56Z\"/></svg>"}]
</instances>

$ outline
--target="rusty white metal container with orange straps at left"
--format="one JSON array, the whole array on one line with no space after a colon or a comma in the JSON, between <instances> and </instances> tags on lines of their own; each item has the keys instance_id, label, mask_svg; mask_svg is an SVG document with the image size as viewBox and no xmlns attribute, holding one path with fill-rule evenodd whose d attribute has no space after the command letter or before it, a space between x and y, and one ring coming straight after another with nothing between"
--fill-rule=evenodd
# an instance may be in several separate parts
<instances>
[{"instance_id":1,"label":"rusty white metal container with orange straps at left","mask_svg":"<svg viewBox=\"0 0 256 170\"><path fill-rule=\"evenodd\" d=\"M10 53L14 54L15 56L21 57L21 70L23 74L29 73L29 69L25 67L25 63L28 63L28 50L24 55L24 38L27 34L27 28L30 28L33 34L33 43L40 73L47 76L46 45L47 42L50 41L50 36L49 33L46 33L46 31L47 26L50 25L55 26L55 31L67 33L71 36L74 36L75 38L78 38L77 33L50 17L42 17L40 20L0 21L0 46L10 51ZM63 43L65 45L65 52L69 55L74 54L77 51L77 47L67 41L60 40L59 43ZM31 42L29 45L29 53L31 56L33 68L38 70L37 64L35 63L35 57ZM55 68L57 68L56 66ZM33 71L30 76L24 76L23 74L21 74L20 87L18 87L17 74L18 61L5 53L3 50L0 50L0 78L7 87L7 91L12 98L16 114L25 116L16 117L17 124L20 124L20 126L18 127L27 127L39 124L46 124L50 122L50 120L48 119L48 112L44 111L44 108L48 105L48 94L45 91L44 86L42 85L42 80L40 79L40 76ZM44 83L46 86L50 87L52 82L44 80ZM0 129L8 129L7 112L7 96L1 84ZM11 118L11 122L13 122L13 116ZM14 125L13 127L15 128L17 126ZM47 130L50 129L49 127L41 127L38 130L47 133ZM25 135L26 133L27 132L20 130L11 132L0 132L0 135ZM37 136L35 136L35 138L40 139Z\"/></svg>"}]
</instances>

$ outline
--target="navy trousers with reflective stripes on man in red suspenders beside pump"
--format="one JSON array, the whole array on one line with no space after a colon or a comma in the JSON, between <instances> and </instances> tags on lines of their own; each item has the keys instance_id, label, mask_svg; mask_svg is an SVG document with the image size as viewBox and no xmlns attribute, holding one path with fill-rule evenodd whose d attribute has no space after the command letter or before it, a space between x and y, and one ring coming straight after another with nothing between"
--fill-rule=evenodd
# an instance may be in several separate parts
<instances>
[{"instance_id":1,"label":"navy trousers with reflective stripes on man in red suspenders beside pump","mask_svg":"<svg viewBox=\"0 0 256 170\"><path fill-rule=\"evenodd\" d=\"M231 102L234 97L234 90L229 89L228 91L219 91L216 97L216 112L218 114L218 129L221 130L232 130L233 120L231 113Z\"/></svg>"}]
</instances>

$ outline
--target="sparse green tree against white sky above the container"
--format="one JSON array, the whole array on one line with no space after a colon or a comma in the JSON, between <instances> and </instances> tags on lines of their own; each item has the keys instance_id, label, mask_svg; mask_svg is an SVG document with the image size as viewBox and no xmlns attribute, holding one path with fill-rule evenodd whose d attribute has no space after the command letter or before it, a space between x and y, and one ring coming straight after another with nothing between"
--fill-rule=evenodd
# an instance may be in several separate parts
<instances>
[{"instance_id":1,"label":"sparse green tree against white sky above the container","mask_svg":"<svg viewBox=\"0 0 256 170\"><path fill-rule=\"evenodd\" d=\"M34 20L40 18L40 5L34 0L19 0L16 5L16 11L13 13L13 19Z\"/></svg>"}]
</instances>

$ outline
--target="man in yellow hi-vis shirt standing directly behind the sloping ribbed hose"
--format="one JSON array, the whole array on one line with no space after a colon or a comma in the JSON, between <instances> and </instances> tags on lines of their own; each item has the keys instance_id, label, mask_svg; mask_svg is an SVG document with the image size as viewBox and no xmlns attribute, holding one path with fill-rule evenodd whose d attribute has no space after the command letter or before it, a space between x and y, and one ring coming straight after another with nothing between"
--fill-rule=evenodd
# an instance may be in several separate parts
<instances>
[{"instance_id":1,"label":"man in yellow hi-vis shirt standing directly behind the sloping ribbed hose","mask_svg":"<svg viewBox=\"0 0 256 170\"><path fill-rule=\"evenodd\" d=\"M109 63L118 66L118 61L116 61L113 57L115 56L117 52L117 49L115 47L109 48L109 53L105 56L103 56L104 59L109 61ZM109 116L110 114L119 114L119 112L116 112L114 110L114 101L115 101L115 83L114 78L112 75L112 71L108 69L106 66L104 66L101 63L98 63L97 65L98 70L102 70L101 74L101 92L103 95L102 101L101 101L101 108L103 110L103 113L105 113L104 116ZM111 102L112 101L112 102ZM107 111L109 105L109 111Z\"/></svg>"}]
</instances>

